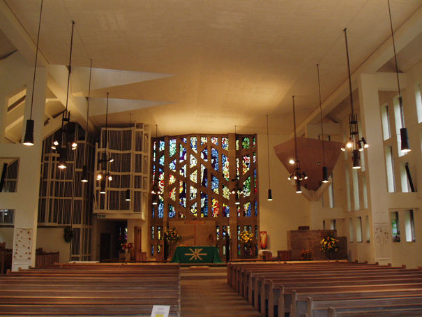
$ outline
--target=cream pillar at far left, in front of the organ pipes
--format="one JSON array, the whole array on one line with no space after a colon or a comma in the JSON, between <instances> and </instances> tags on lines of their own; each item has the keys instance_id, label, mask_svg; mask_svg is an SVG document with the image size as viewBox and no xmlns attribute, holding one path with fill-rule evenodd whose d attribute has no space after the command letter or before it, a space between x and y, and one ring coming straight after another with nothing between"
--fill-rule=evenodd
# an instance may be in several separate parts
<instances>
[{"instance_id":1,"label":"cream pillar at far left, in front of the organ pipes","mask_svg":"<svg viewBox=\"0 0 422 317\"><path fill-rule=\"evenodd\" d=\"M1 65L0 97L1 111L7 115L7 101L17 87L27 86L27 99L24 109L24 138L27 119L31 112L31 95L33 68L27 65L22 57L16 55L13 62ZM13 71L10 67L13 66ZM24 80L22 80L24 78ZM32 119L34 126L34 145L25 146L20 143L0 143L0 157L19 158L19 174L15 193L0 193L0 209L15 209L15 229L13 238L12 270L20 267L35 266L36 230L38 215L38 194L40 185L40 157L43 145L43 126L45 115L45 96L47 91L47 71L37 68L36 84L33 94ZM1 131L4 133L6 121L1 120ZM4 134L3 134L4 135Z\"/></svg>"}]
</instances>

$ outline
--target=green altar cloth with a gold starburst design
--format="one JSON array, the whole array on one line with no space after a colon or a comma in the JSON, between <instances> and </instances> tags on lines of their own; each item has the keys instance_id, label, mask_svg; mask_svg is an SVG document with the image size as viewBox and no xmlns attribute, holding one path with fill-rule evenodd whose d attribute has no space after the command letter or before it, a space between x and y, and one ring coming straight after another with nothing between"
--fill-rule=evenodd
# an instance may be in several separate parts
<instances>
[{"instance_id":1,"label":"green altar cloth with a gold starburst design","mask_svg":"<svg viewBox=\"0 0 422 317\"><path fill-rule=\"evenodd\" d=\"M217 246L177 246L172 263L223 263Z\"/></svg>"}]
</instances>

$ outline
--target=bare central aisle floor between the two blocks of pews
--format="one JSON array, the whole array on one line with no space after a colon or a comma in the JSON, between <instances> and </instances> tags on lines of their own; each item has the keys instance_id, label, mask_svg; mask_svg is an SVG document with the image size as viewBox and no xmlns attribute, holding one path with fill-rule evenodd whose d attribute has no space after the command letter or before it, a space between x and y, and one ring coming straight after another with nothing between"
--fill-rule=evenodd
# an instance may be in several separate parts
<instances>
[{"instance_id":1,"label":"bare central aisle floor between the two blocks of pews","mask_svg":"<svg viewBox=\"0 0 422 317\"><path fill-rule=\"evenodd\" d=\"M181 267L181 317L258 317L253 309L227 285L227 269L191 270Z\"/></svg>"}]
</instances>

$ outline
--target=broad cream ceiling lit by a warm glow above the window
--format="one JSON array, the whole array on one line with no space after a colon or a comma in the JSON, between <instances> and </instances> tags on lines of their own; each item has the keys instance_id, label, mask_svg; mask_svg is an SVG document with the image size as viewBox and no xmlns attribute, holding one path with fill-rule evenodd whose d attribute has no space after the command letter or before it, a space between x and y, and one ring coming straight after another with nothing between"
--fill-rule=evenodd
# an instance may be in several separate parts
<instances>
[{"instance_id":1,"label":"broad cream ceiling lit by a warm glow above the window","mask_svg":"<svg viewBox=\"0 0 422 317\"><path fill-rule=\"evenodd\" d=\"M0 1L35 42L40 0ZM391 0L394 29L421 5ZM91 92L109 92L116 103L109 123L158 124L158 135L234 133L235 126L265 133L266 115L270 133L291 133L292 95L298 123L319 106L317 64L323 101L347 80L345 27L352 72L391 35L386 0L56 0L43 5L39 47L48 63L68 64L72 20L73 66L92 59L95 68L151 73ZM16 50L12 43L0 32L0 59ZM407 49L407 59L412 52L421 50ZM86 96L76 81L71 92ZM104 126L105 116L93 113Z\"/></svg>"}]
</instances>

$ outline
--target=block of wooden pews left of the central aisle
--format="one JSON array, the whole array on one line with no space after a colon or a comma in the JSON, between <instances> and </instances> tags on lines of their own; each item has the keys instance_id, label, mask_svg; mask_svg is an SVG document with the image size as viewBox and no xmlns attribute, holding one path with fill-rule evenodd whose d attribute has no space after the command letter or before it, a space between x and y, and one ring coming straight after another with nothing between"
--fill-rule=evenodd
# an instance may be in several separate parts
<instances>
[{"instance_id":1,"label":"block of wooden pews left of the central aisle","mask_svg":"<svg viewBox=\"0 0 422 317\"><path fill-rule=\"evenodd\" d=\"M179 264L59 264L1 275L0 316L180 317L180 291Z\"/></svg>"}]
</instances>

